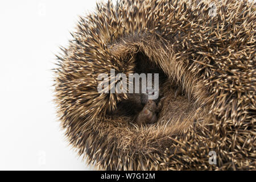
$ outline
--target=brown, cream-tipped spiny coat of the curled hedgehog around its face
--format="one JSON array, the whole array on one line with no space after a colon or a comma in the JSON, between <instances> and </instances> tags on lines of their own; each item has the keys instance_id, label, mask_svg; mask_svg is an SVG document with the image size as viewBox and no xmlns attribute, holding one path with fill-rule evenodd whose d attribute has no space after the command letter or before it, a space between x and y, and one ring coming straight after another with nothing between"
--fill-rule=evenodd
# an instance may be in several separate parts
<instances>
[{"instance_id":1,"label":"brown, cream-tipped spiny coat of the curled hedgehog around its face","mask_svg":"<svg viewBox=\"0 0 256 182\"><path fill-rule=\"evenodd\" d=\"M247 1L123 0L81 17L55 69L65 135L99 169L256 168L256 11ZM138 58L139 57L139 58ZM126 94L97 91L100 73L164 73L154 125L118 114ZM174 98L180 86L191 95ZM125 113L122 110L121 113ZM215 151L217 164L209 164Z\"/></svg>"}]
</instances>

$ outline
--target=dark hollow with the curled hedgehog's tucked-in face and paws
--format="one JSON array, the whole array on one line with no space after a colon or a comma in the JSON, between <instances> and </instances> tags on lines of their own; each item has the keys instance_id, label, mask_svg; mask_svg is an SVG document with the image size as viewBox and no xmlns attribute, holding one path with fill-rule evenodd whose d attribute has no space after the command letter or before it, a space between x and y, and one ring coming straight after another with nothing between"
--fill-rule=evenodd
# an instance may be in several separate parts
<instances>
[{"instance_id":1,"label":"dark hollow with the curled hedgehog's tucked-in face and paws","mask_svg":"<svg viewBox=\"0 0 256 182\"><path fill-rule=\"evenodd\" d=\"M154 60L151 60L143 50L138 51L133 55L134 57L134 69L135 73L158 73L159 74L159 87L156 90L151 88L146 89L146 93L142 93L141 85L142 80L139 83L139 93L127 94L127 100L118 102L117 109L114 111L115 114L119 113L119 117L124 117L126 122L134 122L141 125L141 123L156 123L163 121L163 118L160 117L163 107L162 98L167 98L168 106L163 108L164 110L169 110L172 108L171 113L175 113L176 118L184 118L188 114L188 110L192 110L192 104L188 97L188 93L185 93L185 89L182 88L182 85L179 85L175 78L169 77L164 73L163 69L156 65ZM135 85L135 84L134 84ZM152 88L154 88L154 79L152 81ZM133 89L135 90L135 89ZM156 100L148 99L150 94L156 94L159 97ZM160 102L161 101L161 102ZM174 105L172 105L174 103ZM158 106L160 105L160 107ZM154 106L155 105L155 106ZM150 109L148 109L150 108ZM194 109L195 110L195 109ZM110 115L114 114L113 112ZM170 112L169 112L170 113ZM178 114L179 113L179 114ZM191 114L191 113L189 113ZM166 114L164 114L166 115ZM127 119L129 117L130 119ZM154 118L154 119L153 119ZM141 119L141 121L139 121ZM179 121L172 121L176 124Z\"/></svg>"}]
</instances>

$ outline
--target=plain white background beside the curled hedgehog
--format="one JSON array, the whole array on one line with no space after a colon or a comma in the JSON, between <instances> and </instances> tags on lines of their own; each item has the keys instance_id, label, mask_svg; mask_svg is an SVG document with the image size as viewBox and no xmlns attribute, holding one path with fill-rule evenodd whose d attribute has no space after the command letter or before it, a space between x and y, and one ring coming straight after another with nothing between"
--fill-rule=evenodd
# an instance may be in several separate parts
<instances>
[{"instance_id":1,"label":"plain white background beside the curled hedgehog","mask_svg":"<svg viewBox=\"0 0 256 182\"><path fill-rule=\"evenodd\" d=\"M0 170L89 170L68 146L53 99L55 54L96 1L1 1Z\"/></svg>"}]
</instances>

